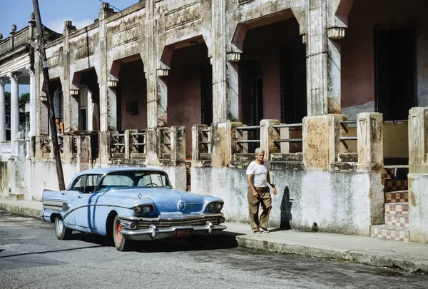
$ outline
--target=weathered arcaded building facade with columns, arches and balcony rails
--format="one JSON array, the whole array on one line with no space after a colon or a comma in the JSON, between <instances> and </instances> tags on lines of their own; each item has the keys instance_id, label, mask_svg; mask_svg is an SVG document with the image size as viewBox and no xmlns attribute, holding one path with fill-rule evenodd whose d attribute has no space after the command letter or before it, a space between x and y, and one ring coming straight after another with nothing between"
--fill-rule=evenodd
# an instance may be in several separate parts
<instances>
[{"instance_id":1,"label":"weathered arcaded building facade with columns, arches and balcony rails","mask_svg":"<svg viewBox=\"0 0 428 289\"><path fill-rule=\"evenodd\" d=\"M245 168L262 146L280 192L272 225L425 242L427 6L146 0L117 13L101 4L83 29L45 28L66 183L85 168L156 166L247 222ZM11 83L0 189L41 200L58 188L49 96L34 21L12 32L0 40L0 84ZM24 137L19 81L31 85Z\"/></svg>"}]
</instances>

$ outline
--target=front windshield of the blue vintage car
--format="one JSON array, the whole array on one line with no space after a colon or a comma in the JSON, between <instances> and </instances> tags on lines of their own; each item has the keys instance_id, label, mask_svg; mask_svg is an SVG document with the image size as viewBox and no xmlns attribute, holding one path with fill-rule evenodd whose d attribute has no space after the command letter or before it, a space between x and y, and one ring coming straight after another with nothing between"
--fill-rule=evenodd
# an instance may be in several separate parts
<instances>
[{"instance_id":1,"label":"front windshield of the blue vintage car","mask_svg":"<svg viewBox=\"0 0 428 289\"><path fill-rule=\"evenodd\" d=\"M116 188L171 188L166 173L159 171L118 171L101 180L98 191Z\"/></svg>"}]
</instances>

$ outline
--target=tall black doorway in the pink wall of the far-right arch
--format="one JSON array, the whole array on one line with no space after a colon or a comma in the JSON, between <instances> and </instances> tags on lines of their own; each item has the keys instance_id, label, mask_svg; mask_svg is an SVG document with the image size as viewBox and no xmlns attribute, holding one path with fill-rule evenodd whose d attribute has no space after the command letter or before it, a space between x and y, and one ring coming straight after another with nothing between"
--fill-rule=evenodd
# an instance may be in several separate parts
<instances>
[{"instance_id":1,"label":"tall black doorway in the pink wall of the far-right arch","mask_svg":"<svg viewBox=\"0 0 428 289\"><path fill-rule=\"evenodd\" d=\"M417 105L414 26L374 32L376 111L384 121L405 120Z\"/></svg>"}]
</instances>

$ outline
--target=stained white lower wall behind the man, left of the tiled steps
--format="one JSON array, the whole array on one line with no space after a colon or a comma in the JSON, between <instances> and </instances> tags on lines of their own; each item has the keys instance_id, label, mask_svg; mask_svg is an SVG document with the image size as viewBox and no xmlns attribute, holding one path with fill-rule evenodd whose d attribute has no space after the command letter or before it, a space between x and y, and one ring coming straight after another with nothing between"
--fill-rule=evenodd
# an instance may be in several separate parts
<instances>
[{"instance_id":1,"label":"stained white lower wall behind the man, left of the tiled steps","mask_svg":"<svg viewBox=\"0 0 428 289\"><path fill-rule=\"evenodd\" d=\"M276 171L270 226L291 218L291 228L370 235L370 225L383 222L383 186L379 173ZM192 192L225 201L229 221L248 223L245 169L192 167Z\"/></svg>"}]
</instances>

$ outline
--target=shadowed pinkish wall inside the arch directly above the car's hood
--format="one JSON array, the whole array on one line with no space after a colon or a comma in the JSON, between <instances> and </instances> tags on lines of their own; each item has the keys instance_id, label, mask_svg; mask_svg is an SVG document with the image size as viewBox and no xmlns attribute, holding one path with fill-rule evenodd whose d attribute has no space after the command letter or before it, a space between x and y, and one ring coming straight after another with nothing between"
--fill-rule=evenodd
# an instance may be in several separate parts
<instances>
[{"instance_id":1,"label":"shadowed pinkish wall inside the arch directly above the car's hood","mask_svg":"<svg viewBox=\"0 0 428 289\"><path fill-rule=\"evenodd\" d=\"M200 71L210 66L205 44L175 49L168 74L168 126L185 126L186 156L192 156L192 126L201 122Z\"/></svg>"}]
</instances>

